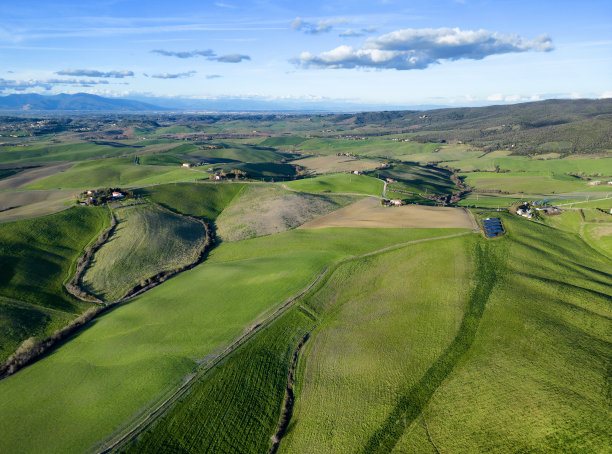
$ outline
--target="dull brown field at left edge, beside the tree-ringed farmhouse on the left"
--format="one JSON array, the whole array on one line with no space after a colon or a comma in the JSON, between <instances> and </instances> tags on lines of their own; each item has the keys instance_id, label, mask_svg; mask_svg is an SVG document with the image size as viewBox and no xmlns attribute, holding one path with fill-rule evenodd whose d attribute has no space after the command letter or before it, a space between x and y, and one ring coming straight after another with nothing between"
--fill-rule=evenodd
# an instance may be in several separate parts
<instances>
[{"instance_id":1,"label":"dull brown field at left edge, beside the tree-ringed farmhouse on the left","mask_svg":"<svg viewBox=\"0 0 612 454\"><path fill-rule=\"evenodd\" d=\"M0 192L0 222L45 216L70 208L78 191L12 191Z\"/></svg>"}]
</instances>

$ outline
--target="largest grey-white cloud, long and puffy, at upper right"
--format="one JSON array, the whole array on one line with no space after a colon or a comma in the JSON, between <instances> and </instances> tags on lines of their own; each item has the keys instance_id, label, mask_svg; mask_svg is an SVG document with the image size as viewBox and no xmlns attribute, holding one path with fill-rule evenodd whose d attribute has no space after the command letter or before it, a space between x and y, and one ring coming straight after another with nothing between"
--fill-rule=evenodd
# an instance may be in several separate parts
<instances>
[{"instance_id":1,"label":"largest grey-white cloud, long and puffy, at upper right","mask_svg":"<svg viewBox=\"0 0 612 454\"><path fill-rule=\"evenodd\" d=\"M552 40L541 35L527 40L487 30L459 28L406 29L369 38L362 48L339 46L313 55L303 52L293 63L302 68L425 69L443 60L481 60L490 55L553 49Z\"/></svg>"}]
</instances>

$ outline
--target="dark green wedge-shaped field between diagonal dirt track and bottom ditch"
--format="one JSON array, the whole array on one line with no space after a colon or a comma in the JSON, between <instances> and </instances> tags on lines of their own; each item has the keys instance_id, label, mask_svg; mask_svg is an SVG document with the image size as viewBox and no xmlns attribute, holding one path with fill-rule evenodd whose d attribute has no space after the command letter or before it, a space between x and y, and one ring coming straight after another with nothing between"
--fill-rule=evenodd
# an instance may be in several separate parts
<instances>
[{"instance_id":1,"label":"dark green wedge-shaped field between diagonal dirt track and bottom ditch","mask_svg":"<svg viewBox=\"0 0 612 454\"><path fill-rule=\"evenodd\" d=\"M291 355L314 320L292 308L200 380L128 453L266 452Z\"/></svg>"}]
</instances>

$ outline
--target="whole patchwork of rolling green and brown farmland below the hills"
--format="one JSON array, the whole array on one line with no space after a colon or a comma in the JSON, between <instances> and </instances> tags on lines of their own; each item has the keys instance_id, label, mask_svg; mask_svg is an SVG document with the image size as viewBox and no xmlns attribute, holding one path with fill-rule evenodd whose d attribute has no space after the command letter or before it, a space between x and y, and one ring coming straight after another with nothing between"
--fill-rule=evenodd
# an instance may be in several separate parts
<instances>
[{"instance_id":1,"label":"whole patchwork of rolling green and brown farmland below the hills","mask_svg":"<svg viewBox=\"0 0 612 454\"><path fill-rule=\"evenodd\" d=\"M483 109L11 138L0 452L607 452L612 158Z\"/></svg>"}]
</instances>

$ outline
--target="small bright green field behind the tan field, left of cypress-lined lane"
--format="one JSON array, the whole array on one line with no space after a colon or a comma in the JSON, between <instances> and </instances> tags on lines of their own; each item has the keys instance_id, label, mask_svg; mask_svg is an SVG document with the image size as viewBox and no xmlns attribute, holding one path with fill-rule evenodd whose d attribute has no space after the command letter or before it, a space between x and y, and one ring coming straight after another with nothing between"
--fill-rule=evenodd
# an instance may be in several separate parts
<instances>
[{"instance_id":1,"label":"small bright green field behind the tan field, left of cypress-lined lane","mask_svg":"<svg viewBox=\"0 0 612 454\"><path fill-rule=\"evenodd\" d=\"M304 192L341 192L382 195L383 182L366 175L336 173L287 183L291 189Z\"/></svg>"}]
</instances>

